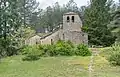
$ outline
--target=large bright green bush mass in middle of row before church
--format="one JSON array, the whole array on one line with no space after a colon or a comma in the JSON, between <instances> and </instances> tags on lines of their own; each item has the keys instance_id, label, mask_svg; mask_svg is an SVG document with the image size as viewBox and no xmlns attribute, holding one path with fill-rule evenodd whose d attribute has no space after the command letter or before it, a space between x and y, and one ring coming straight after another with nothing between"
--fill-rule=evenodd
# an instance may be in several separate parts
<instances>
[{"instance_id":1,"label":"large bright green bush mass in middle of row before church","mask_svg":"<svg viewBox=\"0 0 120 77\"><path fill-rule=\"evenodd\" d=\"M40 45L39 49L44 51L43 56L70 56L72 55L72 43L58 41L53 45Z\"/></svg>"}]
</instances>

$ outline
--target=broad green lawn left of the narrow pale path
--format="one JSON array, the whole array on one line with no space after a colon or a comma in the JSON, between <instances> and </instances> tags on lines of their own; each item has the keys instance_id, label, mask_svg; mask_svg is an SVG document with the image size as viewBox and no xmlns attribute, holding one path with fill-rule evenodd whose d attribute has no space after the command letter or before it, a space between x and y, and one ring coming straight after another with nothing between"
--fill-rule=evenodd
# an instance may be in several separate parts
<instances>
[{"instance_id":1,"label":"broad green lawn left of the narrow pale path","mask_svg":"<svg viewBox=\"0 0 120 77\"><path fill-rule=\"evenodd\" d=\"M31 62L21 58L2 59L0 77L88 77L89 57L47 57Z\"/></svg>"}]
</instances>

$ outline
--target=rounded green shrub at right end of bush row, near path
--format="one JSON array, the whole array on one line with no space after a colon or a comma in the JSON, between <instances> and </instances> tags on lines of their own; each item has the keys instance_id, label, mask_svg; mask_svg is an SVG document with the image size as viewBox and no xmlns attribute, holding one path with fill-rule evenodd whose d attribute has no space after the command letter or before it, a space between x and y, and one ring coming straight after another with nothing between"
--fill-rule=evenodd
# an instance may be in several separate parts
<instances>
[{"instance_id":1,"label":"rounded green shrub at right end of bush row, near path","mask_svg":"<svg viewBox=\"0 0 120 77\"><path fill-rule=\"evenodd\" d=\"M89 51L88 47L84 44L77 45L75 54L78 56L91 56L91 52Z\"/></svg>"}]
</instances>

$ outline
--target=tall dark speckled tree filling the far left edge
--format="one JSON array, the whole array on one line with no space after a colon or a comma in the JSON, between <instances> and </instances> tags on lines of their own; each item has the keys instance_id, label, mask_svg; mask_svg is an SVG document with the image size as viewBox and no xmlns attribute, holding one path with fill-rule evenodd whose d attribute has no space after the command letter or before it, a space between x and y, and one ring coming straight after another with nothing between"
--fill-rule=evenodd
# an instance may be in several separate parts
<instances>
[{"instance_id":1,"label":"tall dark speckled tree filling the far left edge","mask_svg":"<svg viewBox=\"0 0 120 77\"><path fill-rule=\"evenodd\" d=\"M13 55L16 52L14 32L21 26L18 0L0 0L0 54Z\"/></svg>"}]
</instances>

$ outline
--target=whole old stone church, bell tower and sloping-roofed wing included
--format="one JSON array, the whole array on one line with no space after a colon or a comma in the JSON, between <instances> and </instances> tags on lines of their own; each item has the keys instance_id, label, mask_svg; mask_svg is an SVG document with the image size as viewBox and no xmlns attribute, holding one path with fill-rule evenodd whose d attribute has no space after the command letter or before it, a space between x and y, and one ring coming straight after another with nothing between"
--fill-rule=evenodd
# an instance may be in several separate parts
<instances>
[{"instance_id":1,"label":"whole old stone church, bell tower and sloping-roofed wing included","mask_svg":"<svg viewBox=\"0 0 120 77\"><path fill-rule=\"evenodd\" d=\"M74 44L83 43L87 45L88 34L82 32L81 28L82 28L82 21L78 14L74 12L65 13L63 15L62 28L60 28L56 32L53 32L51 35L45 38L40 37L39 44L52 44L57 42L58 40L64 40L64 41L69 40ZM31 41L31 38L29 39L29 41ZM37 37L37 40L38 40L38 37ZM28 44L31 45L31 43L28 43ZM34 44L38 44L38 43L33 43L33 45Z\"/></svg>"}]
</instances>

